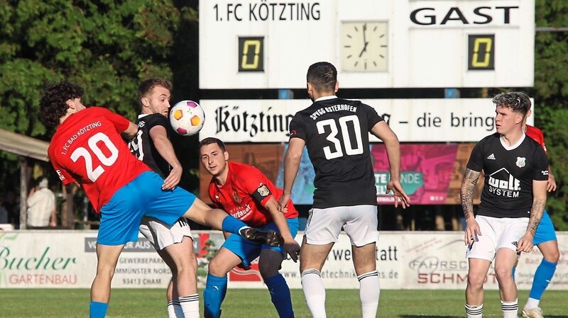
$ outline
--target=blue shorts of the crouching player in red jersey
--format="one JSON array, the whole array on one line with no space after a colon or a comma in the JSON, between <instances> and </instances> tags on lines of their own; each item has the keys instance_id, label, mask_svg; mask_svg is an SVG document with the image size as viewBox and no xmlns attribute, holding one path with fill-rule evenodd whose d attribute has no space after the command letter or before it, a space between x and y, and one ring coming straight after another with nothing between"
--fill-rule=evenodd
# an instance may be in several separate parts
<instances>
[{"instance_id":1,"label":"blue shorts of the crouching player in red jersey","mask_svg":"<svg viewBox=\"0 0 568 318\"><path fill-rule=\"evenodd\" d=\"M290 228L290 233L292 237L296 237L297 228L299 222L297 217L293 219L286 219L288 221L288 227ZM276 232L280 233L278 227L276 227L275 223L268 223L264 227L261 227L263 230L273 229ZM229 251L239 256L245 265L251 265L251 262L254 261L259 255L261 255L261 251L263 249L273 249L275 251L279 251L280 254L285 255L285 251L282 246L273 247L268 245L259 244L256 242L252 242L249 239L245 239L237 234L231 234L227 237L226 241L223 243L221 247L228 249Z\"/></svg>"}]
</instances>

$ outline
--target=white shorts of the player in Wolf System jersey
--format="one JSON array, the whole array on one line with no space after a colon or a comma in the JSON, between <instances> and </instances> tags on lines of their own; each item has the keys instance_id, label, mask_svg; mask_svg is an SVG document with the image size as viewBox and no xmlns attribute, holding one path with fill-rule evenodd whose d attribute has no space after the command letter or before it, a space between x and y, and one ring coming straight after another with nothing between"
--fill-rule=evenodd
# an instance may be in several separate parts
<instances>
[{"instance_id":1,"label":"white shorts of the player in Wolf System jersey","mask_svg":"<svg viewBox=\"0 0 568 318\"><path fill-rule=\"evenodd\" d=\"M528 227L528 217L475 217L481 235L478 241L467 246L468 259L486 259L493 261L498 249L506 248L517 251L519 239Z\"/></svg>"}]
</instances>

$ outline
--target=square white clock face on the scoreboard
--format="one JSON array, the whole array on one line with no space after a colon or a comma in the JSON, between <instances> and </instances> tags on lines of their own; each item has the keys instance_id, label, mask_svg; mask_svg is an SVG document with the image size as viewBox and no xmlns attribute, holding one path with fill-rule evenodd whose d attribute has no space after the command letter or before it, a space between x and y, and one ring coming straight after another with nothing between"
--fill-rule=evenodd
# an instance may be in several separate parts
<instances>
[{"instance_id":1,"label":"square white clock face on the scoreboard","mask_svg":"<svg viewBox=\"0 0 568 318\"><path fill-rule=\"evenodd\" d=\"M343 22L342 70L388 71L388 23L386 21Z\"/></svg>"}]
</instances>

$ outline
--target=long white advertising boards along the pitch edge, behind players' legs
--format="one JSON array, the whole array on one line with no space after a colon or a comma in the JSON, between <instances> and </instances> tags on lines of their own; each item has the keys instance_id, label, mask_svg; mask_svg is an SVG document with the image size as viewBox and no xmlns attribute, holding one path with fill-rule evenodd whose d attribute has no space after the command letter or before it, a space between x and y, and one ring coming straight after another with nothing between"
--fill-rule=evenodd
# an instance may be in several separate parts
<instances>
[{"instance_id":1,"label":"long white advertising boards along the pitch edge, behind players' legs","mask_svg":"<svg viewBox=\"0 0 568 318\"><path fill-rule=\"evenodd\" d=\"M222 232L195 231L198 285L204 287L209 259L224 242ZM303 233L296 236L297 242ZM0 288L89 288L97 266L96 231L0 232ZM463 232L381 232L376 247L383 289L464 289L468 262ZM568 232L557 232L560 259L550 290L568 290ZM528 290L542 254L522 254L515 271L520 290ZM301 288L297 263L283 262L280 273L290 288ZM151 244L143 237L127 244L116 266L114 288L165 288L171 278ZM326 288L358 288L349 238L340 234L322 268ZM484 286L498 288L493 266ZM229 273L229 288L266 288L253 262L249 271Z\"/></svg>"}]
</instances>

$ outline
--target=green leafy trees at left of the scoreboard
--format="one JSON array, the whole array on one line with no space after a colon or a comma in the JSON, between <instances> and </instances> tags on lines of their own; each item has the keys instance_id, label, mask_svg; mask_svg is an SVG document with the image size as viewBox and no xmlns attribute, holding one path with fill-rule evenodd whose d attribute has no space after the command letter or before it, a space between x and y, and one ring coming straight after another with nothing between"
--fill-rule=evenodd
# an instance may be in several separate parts
<instances>
[{"instance_id":1,"label":"green leafy trees at left of the scoreboard","mask_svg":"<svg viewBox=\"0 0 568 318\"><path fill-rule=\"evenodd\" d=\"M84 87L86 105L131 120L138 84L148 77L182 83L173 94L190 99L185 93L198 88L197 11L190 2L0 0L0 128L50 140L53 129L41 123L38 101L49 82L63 79ZM34 164L53 174L50 164ZM19 188L16 155L0 152L0 169L0 193Z\"/></svg>"}]
</instances>

